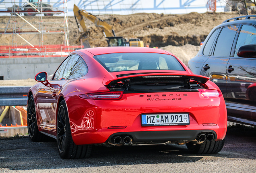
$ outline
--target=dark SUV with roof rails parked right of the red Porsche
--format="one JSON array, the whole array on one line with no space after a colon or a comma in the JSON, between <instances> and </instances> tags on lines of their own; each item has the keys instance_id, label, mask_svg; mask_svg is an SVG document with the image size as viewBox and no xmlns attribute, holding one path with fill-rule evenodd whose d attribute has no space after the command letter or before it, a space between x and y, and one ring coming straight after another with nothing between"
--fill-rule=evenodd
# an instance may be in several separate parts
<instances>
[{"instance_id":1,"label":"dark SUV with roof rails parked right of the red Porsche","mask_svg":"<svg viewBox=\"0 0 256 173\"><path fill-rule=\"evenodd\" d=\"M188 68L219 86L228 121L256 126L256 15L213 28Z\"/></svg>"}]
</instances>

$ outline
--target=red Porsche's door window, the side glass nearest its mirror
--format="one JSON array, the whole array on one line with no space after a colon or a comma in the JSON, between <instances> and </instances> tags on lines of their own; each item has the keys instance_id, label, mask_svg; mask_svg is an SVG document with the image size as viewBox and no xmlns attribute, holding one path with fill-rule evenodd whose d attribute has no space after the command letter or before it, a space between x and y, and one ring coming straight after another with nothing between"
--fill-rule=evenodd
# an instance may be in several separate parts
<instances>
[{"instance_id":1,"label":"red Porsche's door window, the side glass nearest its mirror","mask_svg":"<svg viewBox=\"0 0 256 173\"><path fill-rule=\"evenodd\" d=\"M54 80L60 80L62 78L68 79L68 76L70 75L70 72L78 60L79 56L71 55L66 58L66 60L60 65L58 70L56 71L54 75Z\"/></svg>"}]
</instances>

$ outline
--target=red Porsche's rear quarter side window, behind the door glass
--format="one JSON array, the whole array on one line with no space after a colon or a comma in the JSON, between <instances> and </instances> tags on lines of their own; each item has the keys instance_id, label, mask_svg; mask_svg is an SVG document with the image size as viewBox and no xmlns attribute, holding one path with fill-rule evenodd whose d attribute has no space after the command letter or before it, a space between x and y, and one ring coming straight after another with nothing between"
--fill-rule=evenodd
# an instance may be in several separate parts
<instances>
[{"instance_id":1,"label":"red Porsche's rear quarter side window, behind the door glass","mask_svg":"<svg viewBox=\"0 0 256 173\"><path fill-rule=\"evenodd\" d=\"M76 55L74 55L74 56L76 56ZM87 74L87 72L88 72L88 68L87 68L87 65L85 64L85 61L78 56L78 60L75 62L74 66L68 76L68 79L85 76L85 74Z\"/></svg>"}]
</instances>

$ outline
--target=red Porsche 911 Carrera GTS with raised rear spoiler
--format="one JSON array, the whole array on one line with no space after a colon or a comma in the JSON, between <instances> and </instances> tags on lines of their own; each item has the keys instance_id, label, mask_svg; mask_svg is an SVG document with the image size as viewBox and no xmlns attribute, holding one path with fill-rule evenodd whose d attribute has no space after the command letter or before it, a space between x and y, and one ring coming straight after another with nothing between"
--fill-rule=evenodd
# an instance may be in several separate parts
<instances>
[{"instance_id":1,"label":"red Porsche 911 Carrera GTS with raised rear spoiler","mask_svg":"<svg viewBox=\"0 0 256 173\"><path fill-rule=\"evenodd\" d=\"M221 151L225 101L208 77L193 74L170 52L154 48L76 50L50 80L28 95L32 141L57 140L60 157L89 157L93 144L186 144L192 153Z\"/></svg>"}]
</instances>

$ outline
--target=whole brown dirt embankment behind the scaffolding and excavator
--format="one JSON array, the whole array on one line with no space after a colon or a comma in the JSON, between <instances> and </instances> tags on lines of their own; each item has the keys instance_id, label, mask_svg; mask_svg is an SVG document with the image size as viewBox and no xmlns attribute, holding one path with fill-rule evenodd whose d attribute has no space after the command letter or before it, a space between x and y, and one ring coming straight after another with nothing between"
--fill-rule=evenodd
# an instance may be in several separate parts
<instances>
[{"instance_id":1,"label":"whole brown dirt embankment behind the scaffolding and excavator","mask_svg":"<svg viewBox=\"0 0 256 173\"><path fill-rule=\"evenodd\" d=\"M224 14L224 13L204 13L198 14L196 12L183 15L172 14L156 14L156 13L140 13L131 15L98 15L97 17L106 21L113 26L117 36L124 36L129 38L140 38L145 45L154 46L183 46L192 44L198 46L200 42L204 41L212 28L221 24L224 20L238 16L238 14ZM38 19L30 16L24 16L25 19L32 23L38 22ZM0 16L0 22L4 25L8 23L9 16ZM43 28L50 28L54 30L56 25L64 27L63 17L60 16L43 16ZM22 19L16 17L17 27L21 27L20 31L25 31L26 27L22 26ZM107 42L102 32L102 28L97 28L93 22L85 19L87 29L89 32L89 42L92 47L107 46ZM19 26L19 24L21 26ZM6 26L0 29L4 31ZM80 45L79 30L76 25L74 17L68 17L69 29L69 44ZM10 26L7 31L12 31ZM33 45L38 45L40 34L35 38L34 34L22 34L27 40L31 40ZM33 38L33 39L32 39ZM11 34L0 34L1 44L11 45L13 41L17 41L18 45L24 45L25 41L21 38L12 40ZM34 41L35 40L35 41ZM44 44L63 44L62 34L44 34Z\"/></svg>"}]
</instances>

